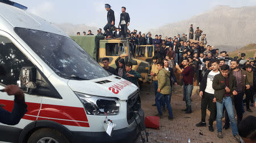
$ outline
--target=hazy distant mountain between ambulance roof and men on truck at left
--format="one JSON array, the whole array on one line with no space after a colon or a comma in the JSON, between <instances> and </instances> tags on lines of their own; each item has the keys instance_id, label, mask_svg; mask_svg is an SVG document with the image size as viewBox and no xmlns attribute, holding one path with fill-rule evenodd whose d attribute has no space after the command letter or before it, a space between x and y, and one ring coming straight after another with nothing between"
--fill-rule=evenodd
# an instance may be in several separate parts
<instances>
[{"instance_id":1,"label":"hazy distant mountain between ambulance roof and men on truck at left","mask_svg":"<svg viewBox=\"0 0 256 143\"><path fill-rule=\"evenodd\" d=\"M91 30L93 34L97 34L97 27L89 27L85 24L71 24L71 23L53 23L56 27L59 27L61 30L63 30L65 33L67 33L69 36L76 35L77 32L86 32L88 34L88 31Z\"/></svg>"}]
</instances>

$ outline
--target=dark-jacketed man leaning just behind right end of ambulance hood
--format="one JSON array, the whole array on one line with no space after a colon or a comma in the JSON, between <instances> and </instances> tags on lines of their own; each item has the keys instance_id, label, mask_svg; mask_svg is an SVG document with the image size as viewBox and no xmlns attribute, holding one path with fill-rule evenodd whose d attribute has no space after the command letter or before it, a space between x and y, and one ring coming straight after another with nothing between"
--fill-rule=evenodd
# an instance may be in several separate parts
<instances>
[{"instance_id":1,"label":"dark-jacketed man leaning just behind right end of ambulance hood","mask_svg":"<svg viewBox=\"0 0 256 143\"><path fill-rule=\"evenodd\" d=\"M141 78L141 74L134 70L131 70L131 68L133 68L133 64L131 64L131 62L127 62L125 64L126 72L123 74L123 79L126 79L138 86L138 79Z\"/></svg>"}]
</instances>

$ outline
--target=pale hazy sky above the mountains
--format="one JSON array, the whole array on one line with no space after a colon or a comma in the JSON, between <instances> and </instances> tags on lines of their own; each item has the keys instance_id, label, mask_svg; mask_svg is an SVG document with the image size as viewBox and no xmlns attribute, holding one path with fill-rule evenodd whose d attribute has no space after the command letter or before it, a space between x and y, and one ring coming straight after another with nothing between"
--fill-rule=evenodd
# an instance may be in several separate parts
<instances>
[{"instance_id":1,"label":"pale hazy sky above the mountains","mask_svg":"<svg viewBox=\"0 0 256 143\"><path fill-rule=\"evenodd\" d=\"M119 23L121 7L126 7L130 15L129 29L146 31L167 23L189 19L203 13L216 5L231 7L254 6L255 0L14 0L28 7L29 12L53 23L86 24L104 27L106 24L105 3L109 3L115 12L115 23Z\"/></svg>"}]
</instances>

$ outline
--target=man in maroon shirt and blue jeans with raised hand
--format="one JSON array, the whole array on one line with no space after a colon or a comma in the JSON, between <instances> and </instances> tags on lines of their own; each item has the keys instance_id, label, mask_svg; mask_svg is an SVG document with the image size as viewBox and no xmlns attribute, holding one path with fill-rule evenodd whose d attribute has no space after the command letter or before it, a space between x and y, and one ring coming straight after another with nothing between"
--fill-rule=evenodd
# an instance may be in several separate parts
<instances>
[{"instance_id":1,"label":"man in maroon shirt and blue jeans with raised hand","mask_svg":"<svg viewBox=\"0 0 256 143\"><path fill-rule=\"evenodd\" d=\"M191 66L189 66L188 58L184 58L181 64L183 64L184 69L181 69L179 64L176 64L176 68L183 75L183 96L185 97L186 101L186 109L183 109L182 111L185 111L186 114L191 114L191 94L193 90L194 70Z\"/></svg>"}]
</instances>

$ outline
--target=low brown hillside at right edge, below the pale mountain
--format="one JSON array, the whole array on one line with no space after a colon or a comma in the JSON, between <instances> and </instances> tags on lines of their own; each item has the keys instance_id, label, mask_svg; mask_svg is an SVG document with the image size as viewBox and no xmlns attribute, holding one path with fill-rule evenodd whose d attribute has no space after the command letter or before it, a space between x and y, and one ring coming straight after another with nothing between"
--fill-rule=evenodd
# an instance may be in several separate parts
<instances>
[{"instance_id":1,"label":"low brown hillside at right edge, below the pale mountain","mask_svg":"<svg viewBox=\"0 0 256 143\"><path fill-rule=\"evenodd\" d=\"M249 44L246 46L241 47L240 49L236 51L229 52L229 57L234 58L235 56L238 56L238 53L245 53L246 59L247 58L254 58L256 57L256 44ZM238 56L240 57L240 55Z\"/></svg>"}]
</instances>

